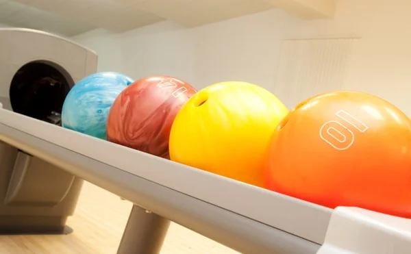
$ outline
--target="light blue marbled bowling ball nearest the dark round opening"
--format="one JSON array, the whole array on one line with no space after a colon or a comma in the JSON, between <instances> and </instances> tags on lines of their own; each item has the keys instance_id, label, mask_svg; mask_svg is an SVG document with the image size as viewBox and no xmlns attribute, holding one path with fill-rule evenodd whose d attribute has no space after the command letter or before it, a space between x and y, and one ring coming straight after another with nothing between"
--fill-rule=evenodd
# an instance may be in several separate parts
<instances>
[{"instance_id":1,"label":"light blue marbled bowling ball nearest the dark round opening","mask_svg":"<svg viewBox=\"0 0 411 254\"><path fill-rule=\"evenodd\" d=\"M101 72L80 80L64 100L62 127L105 140L105 124L113 101L134 80Z\"/></svg>"}]
</instances>

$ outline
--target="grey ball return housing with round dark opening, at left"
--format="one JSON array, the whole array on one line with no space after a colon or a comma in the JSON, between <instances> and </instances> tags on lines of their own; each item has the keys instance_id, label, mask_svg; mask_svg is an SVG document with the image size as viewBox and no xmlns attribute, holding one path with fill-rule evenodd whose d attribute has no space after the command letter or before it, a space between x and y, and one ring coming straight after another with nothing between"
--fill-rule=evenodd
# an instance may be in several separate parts
<instances>
[{"instance_id":1,"label":"grey ball return housing with round dark opening, at left","mask_svg":"<svg viewBox=\"0 0 411 254\"><path fill-rule=\"evenodd\" d=\"M5 110L45 114L47 103L58 110L64 93L96 71L97 55L81 45L42 31L0 28L0 103ZM46 86L51 79L58 85ZM0 142L0 233L65 232L82 183L25 149Z\"/></svg>"}]
</instances>

